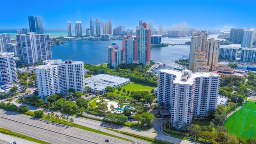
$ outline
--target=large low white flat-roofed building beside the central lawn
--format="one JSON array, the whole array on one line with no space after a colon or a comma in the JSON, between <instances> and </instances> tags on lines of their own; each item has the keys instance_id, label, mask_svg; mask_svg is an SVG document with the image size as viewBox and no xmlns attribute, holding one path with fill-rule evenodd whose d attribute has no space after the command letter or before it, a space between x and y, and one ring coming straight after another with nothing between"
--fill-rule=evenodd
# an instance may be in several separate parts
<instances>
[{"instance_id":1,"label":"large low white flat-roofed building beside the central lawn","mask_svg":"<svg viewBox=\"0 0 256 144\"><path fill-rule=\"evenodd\" d=\"M100 94L105 92L107 86L111 86L114 89L120 86L129 84L131 82L130 78L123 78L120 76L113 76L110 74L98 74L89 78L85 78L86 86L89 86L91 92Z\"/></svg>"}]
</instances>

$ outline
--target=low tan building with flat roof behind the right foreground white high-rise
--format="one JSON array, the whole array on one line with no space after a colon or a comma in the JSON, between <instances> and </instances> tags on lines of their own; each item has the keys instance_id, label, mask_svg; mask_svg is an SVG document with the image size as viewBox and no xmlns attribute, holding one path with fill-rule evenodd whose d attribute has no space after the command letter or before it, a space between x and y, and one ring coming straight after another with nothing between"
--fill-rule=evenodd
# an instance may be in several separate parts
<instances>
[{"instance_id":1,"label":"low tan building with flat roof behind the right foreground white high-rise","mask_svg":"<svg viewBox=\"0 0 256 144\"><path fill-rule=\"evenodd\" d=\"M246 76L245 70L239 70L234 68L215 67L212 72L219 74L222 78L234 77L242 79Z\"/></svg>"}]
</instances>

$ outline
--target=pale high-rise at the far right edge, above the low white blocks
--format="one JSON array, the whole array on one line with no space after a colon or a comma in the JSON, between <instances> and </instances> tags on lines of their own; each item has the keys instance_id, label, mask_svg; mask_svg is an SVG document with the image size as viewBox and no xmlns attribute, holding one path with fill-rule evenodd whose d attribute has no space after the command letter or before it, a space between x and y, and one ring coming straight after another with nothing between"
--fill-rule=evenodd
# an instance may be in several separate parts
<instances>
[{"instance_id":1,"label":"pale high-rise at the far right edge, above the low white blocks","mask_svg":"<svg viewBox=\"0 0 256 144\"><path fill-rule=\"evenodd\" d=\"M245 29L241 47L252 48L252 44L255 41L256 41L256 28Z\"/></svg>"}]
</instances>

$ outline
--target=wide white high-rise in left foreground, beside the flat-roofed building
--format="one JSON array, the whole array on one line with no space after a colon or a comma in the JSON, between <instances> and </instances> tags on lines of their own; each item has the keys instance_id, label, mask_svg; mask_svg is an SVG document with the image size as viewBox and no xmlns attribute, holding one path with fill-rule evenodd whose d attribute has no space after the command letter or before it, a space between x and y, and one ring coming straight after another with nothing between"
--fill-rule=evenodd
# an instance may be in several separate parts
<instances>
[{"instance_id":1,"label":"wide white high-rise in left foreground, beside the flat-roofed building","mask_svg":"<svg viewBox=\"0 0 256 144\"><path fill-rule=\"evenodd\" d=\"M36 82L41 99L56 93L66 93L70 88L84 93L84 62L46 60L37 66Z\"/></svg>"}]
</instances>

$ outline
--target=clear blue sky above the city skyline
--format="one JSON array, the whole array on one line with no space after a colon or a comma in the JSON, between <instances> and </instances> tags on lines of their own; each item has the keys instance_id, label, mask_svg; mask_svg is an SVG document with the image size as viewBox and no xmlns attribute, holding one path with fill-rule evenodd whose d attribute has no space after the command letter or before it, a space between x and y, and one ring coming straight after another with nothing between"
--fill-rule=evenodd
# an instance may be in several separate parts
<instances>
[{"instance_id":1,"label":"clear blue sky above the city skyline","mask_svg":"<svg viewBox=\"0 0 256 144\"><path fill-rule=\"evenodd\" d=\"M223 26L256 27L256 1L89 1L89 0L0 0L0 29L29 28L28 16L41 16L45 30L66 30L67 20L82 21L82 28L90 26L90 18L101 22L112 19L112 27L125 25L136 29L138 21L153 20L171 27L187 22L188 27L219 28ZM95 27L95 24L94 24Z\"/></svg>"}]
</instances>

